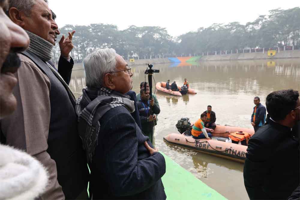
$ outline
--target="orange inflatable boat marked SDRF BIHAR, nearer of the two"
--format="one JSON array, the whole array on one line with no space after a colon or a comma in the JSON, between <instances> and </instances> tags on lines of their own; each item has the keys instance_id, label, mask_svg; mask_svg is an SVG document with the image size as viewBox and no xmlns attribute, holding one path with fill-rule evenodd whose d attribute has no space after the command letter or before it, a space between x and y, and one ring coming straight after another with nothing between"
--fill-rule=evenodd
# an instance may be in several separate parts
<instances>
[{"instance_id":1,"label":"orange inflatable boat marked SDRF BIHAR, nearer of the two","mask_svg":"<svg viewBox=\"0 0 300 200\"><path fill-rule=\"evenodd\" d=\"M247 145L233 141L232 137L229 137L230 133L250 137L254 134L254 129L217 125L211 139L194 139L192 136L185 135L187 133L184 132L182 134L171 133L165 136L164 140L173 145L244 163Z\"/></svg>"}]
</instances>

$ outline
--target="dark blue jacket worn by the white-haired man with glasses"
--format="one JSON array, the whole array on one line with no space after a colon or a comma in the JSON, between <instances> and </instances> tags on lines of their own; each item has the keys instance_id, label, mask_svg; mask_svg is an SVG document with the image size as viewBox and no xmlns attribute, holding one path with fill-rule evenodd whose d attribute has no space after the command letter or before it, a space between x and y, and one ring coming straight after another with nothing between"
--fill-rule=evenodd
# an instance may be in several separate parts
<instances>
[{"instance_id":1,"label":"dark blue jacket worn by the white-haired man with glasses","mask_svg":"<svg viewBox=\"0 0 300 200\"><path fill-rule=\"evenodd\" d=\"M93 199L166 199L161 177L164 157L153 148L124 106L110 109L100 119L98 146L91 164Z\"/></svg>"}]
</instances>

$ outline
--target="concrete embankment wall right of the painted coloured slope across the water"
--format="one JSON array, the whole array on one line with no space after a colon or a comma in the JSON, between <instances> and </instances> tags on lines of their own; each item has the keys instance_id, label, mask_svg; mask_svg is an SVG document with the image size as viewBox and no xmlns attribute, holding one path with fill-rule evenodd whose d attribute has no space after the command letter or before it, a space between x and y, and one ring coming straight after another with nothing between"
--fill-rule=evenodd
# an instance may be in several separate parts
<instances>
[{"instance_id":1,"label":"concrete embankment wall right of the painted coloured slope across the water","mask_svg":"<svg viewBox=\"0 0 300 200\"><path fill-rule=\"evenodd\" d=\"M256 60L256 59L282 59L300 58L300 50L289 50L277 52L274 56L268 56L267 51L256 53L234 53L225 55L204 55L200 61L225 61L225 60Z\"/></svg>"}]
</instances>

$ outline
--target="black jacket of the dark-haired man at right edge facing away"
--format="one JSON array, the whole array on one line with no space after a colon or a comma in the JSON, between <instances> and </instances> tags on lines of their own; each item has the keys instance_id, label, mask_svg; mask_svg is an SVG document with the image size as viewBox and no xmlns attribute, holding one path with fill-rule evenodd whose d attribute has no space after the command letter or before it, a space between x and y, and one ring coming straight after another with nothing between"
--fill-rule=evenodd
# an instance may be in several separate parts
<instances>
[{"instance_id":1,"label":"black jacket of the dark-haired man at right edge facing away","mask_svg":"<svg viewBox=\"0 0 300 200\"><path fill-rule=\"evenodd\" d=\"M249 140L244 184L250 199L287 199L299 185L299 124L271 119Z\"/></svg>"}]
</instances>

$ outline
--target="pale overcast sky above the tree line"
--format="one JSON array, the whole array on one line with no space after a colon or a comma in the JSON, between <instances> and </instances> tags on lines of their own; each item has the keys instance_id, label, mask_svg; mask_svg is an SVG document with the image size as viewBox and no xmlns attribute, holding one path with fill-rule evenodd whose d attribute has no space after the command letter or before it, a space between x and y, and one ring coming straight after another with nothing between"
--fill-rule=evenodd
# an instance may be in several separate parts
<instances>
[{"instance_id":1,"label":"pale overcast sky above the tree line","mask_svg":"<svg viewBox=\"0 0 300 200\"><path fill-rule=\"evenodd\" d=\"M130 25L161 26L172 36L213 23L246 24L268 10L299 6L299 0L49 0L59 27L91 23L114 24L120 30Z\"/></svg>"}]
</instances>

